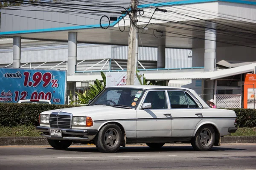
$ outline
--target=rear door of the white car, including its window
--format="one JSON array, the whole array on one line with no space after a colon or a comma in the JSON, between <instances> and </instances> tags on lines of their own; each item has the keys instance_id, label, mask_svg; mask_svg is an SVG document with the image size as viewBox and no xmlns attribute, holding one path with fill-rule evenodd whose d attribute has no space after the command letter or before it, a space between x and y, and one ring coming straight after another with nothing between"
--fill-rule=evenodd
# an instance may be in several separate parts
<instances>
[{"instance_id":1,"label":"rear door of the white car, including its window","mask_svg":"<svg viewBox=\"0 0 256 170\"><path fill-rule=\"evenodd\" d=\"M172 137L192 136L203 117L203 109L185 91L168 91L168 96L172 114Z\"/></svg>"}]
</instances>

